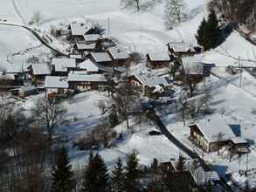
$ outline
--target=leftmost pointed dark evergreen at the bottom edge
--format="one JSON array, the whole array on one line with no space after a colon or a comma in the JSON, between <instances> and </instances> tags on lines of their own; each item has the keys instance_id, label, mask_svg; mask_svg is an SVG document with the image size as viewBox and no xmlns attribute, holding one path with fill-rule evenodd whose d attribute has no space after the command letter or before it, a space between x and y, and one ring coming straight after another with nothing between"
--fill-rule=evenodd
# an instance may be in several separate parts
<instances>
[{"instance_id":1,"label":"leftmost pointed dark evergreen at the bottom edge","mask_svg":"<svg viewBox=\"0 0 256 192\"><path fill-rule=\"evenodd\" d=\"M66 147L62 147L56 155L56 165L52 170L52 192L70 192L74 187L70 159Z\"/></svg>"}]
</instances>

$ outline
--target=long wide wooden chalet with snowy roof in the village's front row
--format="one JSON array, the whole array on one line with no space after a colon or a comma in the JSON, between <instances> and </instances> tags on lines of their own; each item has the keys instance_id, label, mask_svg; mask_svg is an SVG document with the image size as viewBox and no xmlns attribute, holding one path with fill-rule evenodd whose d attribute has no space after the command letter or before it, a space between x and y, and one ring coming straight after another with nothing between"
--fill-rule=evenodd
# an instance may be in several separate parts
<instances>
[{"instance_id":1,"label":"long wide wooden chalet with snowy roof in the village's front row","mask_svg":"<svg viewBox=\"0 0 256 192\"><path fill-rule=\"evenodd\" d=\"M91 90L107 90L107 79L103 74L84 74L80 72L70 72L68 75L68 84L71 89L80 92Z\"/></svg>"}]
</instances>

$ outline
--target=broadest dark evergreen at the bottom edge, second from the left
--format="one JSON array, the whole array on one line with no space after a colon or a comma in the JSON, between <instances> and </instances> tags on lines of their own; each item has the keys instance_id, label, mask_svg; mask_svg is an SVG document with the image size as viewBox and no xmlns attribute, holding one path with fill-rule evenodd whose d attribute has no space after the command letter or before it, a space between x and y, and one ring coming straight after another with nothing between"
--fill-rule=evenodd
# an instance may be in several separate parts
<instances>
[{"instance_id":1,"label":"broadest dark evergreen at the bottom edge, second from the left","mask_svg":"<svg viewBox=\"0 0 256 192\"><path fill-rule=\"evenodd\" d=\"M109 191L109 176L107 166L100 154L90 154L86 166L83 183L83 192L107 192Z\"/></svg>"}]
</instances>

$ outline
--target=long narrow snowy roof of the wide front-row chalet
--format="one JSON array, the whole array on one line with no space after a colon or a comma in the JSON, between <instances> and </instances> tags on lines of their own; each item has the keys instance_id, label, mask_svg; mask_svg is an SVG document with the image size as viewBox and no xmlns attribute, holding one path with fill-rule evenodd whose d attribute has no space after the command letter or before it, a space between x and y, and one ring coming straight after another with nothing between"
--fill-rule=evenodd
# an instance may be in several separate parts
<instances>
[{"instance_id":1,"label":"long narrow snowy roof of the wide front-row chalet","mask_svg":"<svg viewBox=\"0 0 256 192\"><path fill-rule=\"evenodd\" d=\"M107 79L103 74L77 74L69 72L68 81L80 81L80 82L107 82Z\"/></svg>"}]
</instances>

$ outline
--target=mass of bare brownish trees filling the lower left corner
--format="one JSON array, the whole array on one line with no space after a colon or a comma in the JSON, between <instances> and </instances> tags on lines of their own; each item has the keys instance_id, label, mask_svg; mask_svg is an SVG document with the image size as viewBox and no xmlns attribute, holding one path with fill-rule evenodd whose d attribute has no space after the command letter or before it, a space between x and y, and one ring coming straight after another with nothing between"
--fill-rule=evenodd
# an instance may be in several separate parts
<instances>
[{"instance_id":1,"label":"mass of bare brownish trees filling the lower left corner","mask_svg":"<svg viewBox=\"0 0 256 192\"><path fill-rule=\"evenodd\" d=\"M0 98L0 191L49 191L46 168L52 167L52 135L66 109L40 99L31 115L9 93Z\"/></svg>"}]
</instances>

